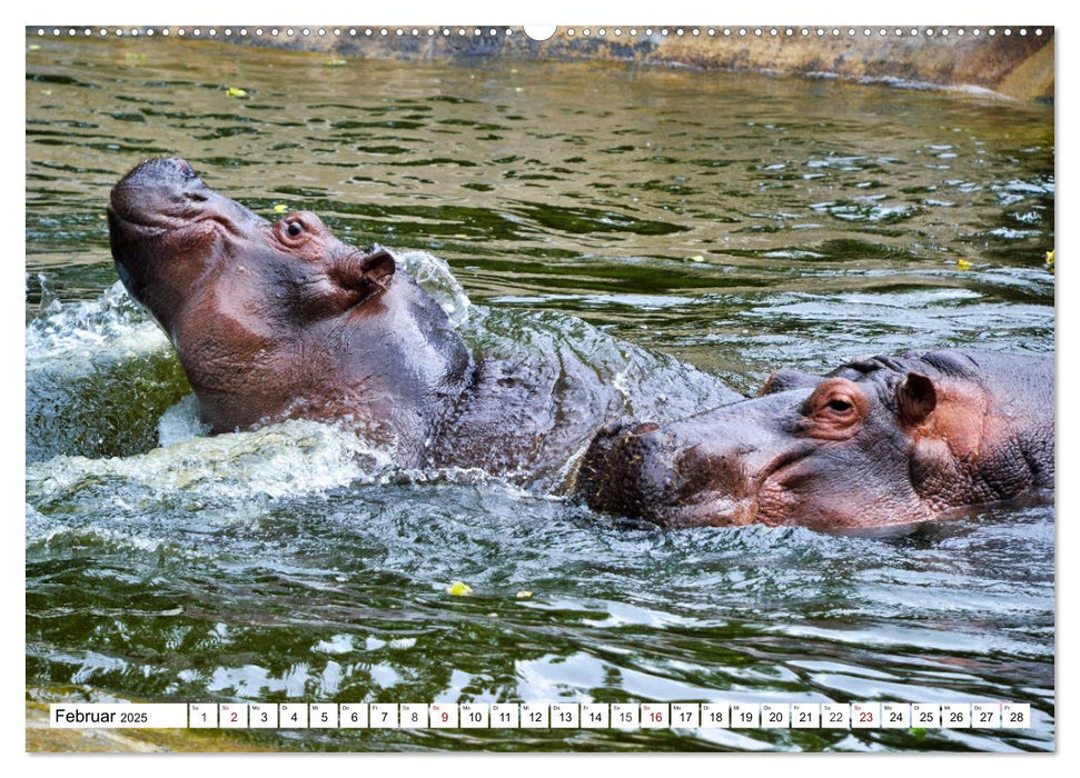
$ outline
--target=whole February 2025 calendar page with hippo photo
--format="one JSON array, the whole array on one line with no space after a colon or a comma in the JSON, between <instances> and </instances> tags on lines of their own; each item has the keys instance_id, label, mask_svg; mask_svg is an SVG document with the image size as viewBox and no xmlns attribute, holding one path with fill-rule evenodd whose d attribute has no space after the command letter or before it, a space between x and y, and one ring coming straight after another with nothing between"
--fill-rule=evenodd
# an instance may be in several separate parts
<instances>
[{"instance_id":1,"label":"whole February 2025 calendar page with hippo photo","mask_svg":"<svg viewBox=\"0 0 1080 778\"><path fill-rule=\"evenodd\" d=\"M725 13L24 29L27 751L1054 750L1054 28Z\"/></svg>"}]
</instances>

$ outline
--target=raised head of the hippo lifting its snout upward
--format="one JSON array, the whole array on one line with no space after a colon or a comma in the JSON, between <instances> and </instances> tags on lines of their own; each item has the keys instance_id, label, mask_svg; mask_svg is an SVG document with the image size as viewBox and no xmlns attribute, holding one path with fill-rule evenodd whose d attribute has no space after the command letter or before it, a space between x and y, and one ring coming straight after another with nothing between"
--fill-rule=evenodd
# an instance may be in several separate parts
<instances>
[{"instance_id":1,"label":"raised head of the hippo lifting its snout upward","mask_svg":"<svg viewBox=\"0 0 1080 778\"><path fill-rule=\"evenodd\" d=\"M214 431L349 418L415 449L462 390L472 357L442 308L388 251L314 213L267 221L156 159L113 187L108 218L120 279Z\"/></svg>"}]
</instances>

